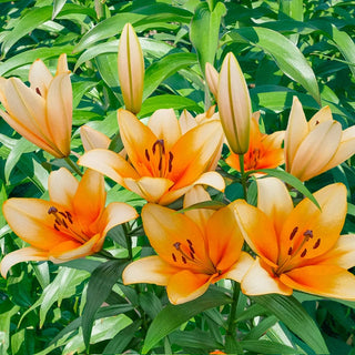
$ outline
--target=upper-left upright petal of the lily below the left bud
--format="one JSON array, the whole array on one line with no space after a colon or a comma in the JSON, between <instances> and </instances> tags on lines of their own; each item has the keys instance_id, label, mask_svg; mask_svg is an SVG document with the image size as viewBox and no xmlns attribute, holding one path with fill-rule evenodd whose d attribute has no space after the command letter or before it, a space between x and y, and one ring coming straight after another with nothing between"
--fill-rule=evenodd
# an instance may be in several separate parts
<instances>
[{"instance_id":1,"label":"upper-left upright petal of the lily below the left bud","mask_svg":"<svg viewBox=\"0 0 355 355\"><path fill-rule=\"evenodd\" d=\"M152 150L156 142L155 134L130 111L118 111L120 134L132 165L141 175L146 174L144 165L150 165L145 150Z\"/></svg>"}]
</instances>

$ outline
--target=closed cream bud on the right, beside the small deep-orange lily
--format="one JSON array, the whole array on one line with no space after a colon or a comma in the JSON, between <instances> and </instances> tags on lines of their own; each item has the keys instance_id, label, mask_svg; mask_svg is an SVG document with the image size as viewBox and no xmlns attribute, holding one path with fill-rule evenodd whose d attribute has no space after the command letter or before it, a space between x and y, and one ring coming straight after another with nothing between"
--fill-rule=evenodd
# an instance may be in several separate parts
<instances>
[{"instance_id":1,"label":"closed cream bud on the right, beside the small deep-orange lily","mask_svg":"<svg viewBox=\"0 0 355 355\"><path fill-rule=\"evenodd\" d=\"M233 153L248 150L251 99L243 72L233 55L226 54L220 72L217 103L225 138Z\"/></svg>"}]
</instances>

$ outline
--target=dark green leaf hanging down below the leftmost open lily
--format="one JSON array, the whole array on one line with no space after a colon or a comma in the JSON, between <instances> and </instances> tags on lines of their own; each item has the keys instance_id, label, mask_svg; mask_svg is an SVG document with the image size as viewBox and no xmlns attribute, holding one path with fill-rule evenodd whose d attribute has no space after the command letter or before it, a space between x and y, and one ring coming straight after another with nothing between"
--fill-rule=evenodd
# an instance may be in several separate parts
<instances>
[{"instance_id":1,"label":"dark green leaf hanging down below the leftmost open lily","mask_svg":"<svg viewBox=\"0 0 355 355\"><path fill-rule=\"evenodd\" d=\"M89 281L85 307L82 314L82 335L85 347L89 346L94 316L119 280L126 261L108 261L97 267Z\"/></svg>"}]
</instances>

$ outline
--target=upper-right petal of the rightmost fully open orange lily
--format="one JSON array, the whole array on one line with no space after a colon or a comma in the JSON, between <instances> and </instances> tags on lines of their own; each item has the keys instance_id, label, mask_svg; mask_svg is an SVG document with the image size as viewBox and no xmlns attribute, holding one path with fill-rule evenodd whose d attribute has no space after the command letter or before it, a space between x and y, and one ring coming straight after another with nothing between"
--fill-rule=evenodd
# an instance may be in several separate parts
<instances>
[{"instance_id":1,"label":"upper-right petal of the rightmost fully open orange lily","mask_svg":"<svg viewBox=\"0 0 355 355\"><path fill-rule=\"evenodd\" d=\"M346 187L341 183L331 184L317 191L314 197L322 210L304 199L284 222L280 244L282 260L288 258L290 247L293 252L300 247L305 240L304 233L311 233L312 236L304 243L298 255L293 257L293 264L322 255L337 242L347 210ZM305 255L301 257L303 253Z\"/></svg>"}]
</instances>

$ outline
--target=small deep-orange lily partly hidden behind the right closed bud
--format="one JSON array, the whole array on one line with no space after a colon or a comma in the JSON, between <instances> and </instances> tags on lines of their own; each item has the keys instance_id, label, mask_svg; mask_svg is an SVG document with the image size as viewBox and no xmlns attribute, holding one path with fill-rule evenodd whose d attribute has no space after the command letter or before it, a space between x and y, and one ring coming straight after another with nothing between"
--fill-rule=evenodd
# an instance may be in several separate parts
<instances>
[{"instance_id":1,"label":"small deep-orange lily partly hidden behind the right closed bud","mask_svg":"<svg viewBox=\"0 0 355 355\"><path fill-rule=\"evenodd\" d=\"M264 134L258 128L260 112L254 112L251 122L248 151L244 156L244 171L273 169L284 163L284 150L281 148L284 131ZM225 162L241 171L240 156L231 152Z\"/></svg>"}]
</instances>

